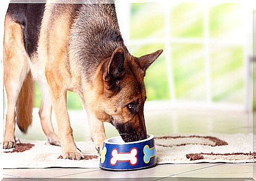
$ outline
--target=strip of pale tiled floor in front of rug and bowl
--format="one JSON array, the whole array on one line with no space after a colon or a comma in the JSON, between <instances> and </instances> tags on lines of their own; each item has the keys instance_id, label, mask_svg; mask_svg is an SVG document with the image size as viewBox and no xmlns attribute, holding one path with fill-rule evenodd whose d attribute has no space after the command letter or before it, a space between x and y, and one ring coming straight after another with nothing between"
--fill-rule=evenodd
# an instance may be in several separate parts
<instances>
[{"instance_id":1,"label":"strip of pale tiled floor in front of rug and bowl","mask_svg":"<svg viewBox=\"0 0 256 181\"><path fill-rule=\"evenodd\" d=\"M147 180L157 180L168 177L187 177L190 178L189 180L197 180L196 178L246 178L243 180L251 180L249 178L252 178L253 166L256 164L164 164L129 172L108 172L98 168L4 169L4 178L31 178L45 181L50 180L49 178L147 178Z\"/></svg>"}]
</instances>

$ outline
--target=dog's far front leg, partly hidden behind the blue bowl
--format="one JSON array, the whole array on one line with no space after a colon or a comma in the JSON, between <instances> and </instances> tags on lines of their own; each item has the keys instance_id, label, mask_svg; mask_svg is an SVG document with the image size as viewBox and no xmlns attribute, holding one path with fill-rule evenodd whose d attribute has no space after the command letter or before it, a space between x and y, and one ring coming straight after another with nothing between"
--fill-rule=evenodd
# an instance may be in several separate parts
<instances>
[{"instance_id":1,"label":"dog's far front leg, partly hidden behind the blue bowl","mask_svg":"<svg viewBox=\"0 0 256 181\"><path fill-rule=\"evenodd\" d=\"M91 130L91 138L95 144L98 153L101 154L103 141L106 139L105 128L102 121L97 119L89 109L86 109Z\"/></svg>"}]
</instances>

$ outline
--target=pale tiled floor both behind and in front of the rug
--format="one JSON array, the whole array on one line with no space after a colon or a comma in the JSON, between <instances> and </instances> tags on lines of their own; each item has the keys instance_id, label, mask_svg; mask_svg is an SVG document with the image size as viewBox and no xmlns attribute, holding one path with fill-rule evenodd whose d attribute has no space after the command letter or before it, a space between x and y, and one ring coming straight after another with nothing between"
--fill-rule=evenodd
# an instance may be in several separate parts
<instances>
[{"instance_id":1,"label":"pale tiled floor both behind and in front of the rug","mask_svg":"<svg viewBox=\"0 0 256 181\"><path fill-rule=\"evenodd\" d=\"M35 110L35 113L37 110ZM89 129L86 114L70 112L71 124L76 140L89 139ZM35 119L38 119L35 117ZM238 112L196 112L193 110L145 110L148 132L154 135L177 133L251 133L251 116ZM41 133L40 121L35 120L28 135L17 132L18 137L33 138ZM54 123L55 125L55 123ZM165 125L165 126L163 126ZM115 128L107 125L107 136L118 133ZM82 133L82 134L81 134ZM254 167L255 166L255 167ZM53 178L131 178L131 180L220 180L220 178L238 178L236 180L253 180L253 167L256 164L164 164L154 168L129 172L108 172L99 168L45 168L45 169L4 169L4 178L27 178L51 180ZM255 172L255 170L254 170ZM207 178L207 179L206 179ZM245 179L246 178L246 179Z\"/></svg>"}]
</instances>

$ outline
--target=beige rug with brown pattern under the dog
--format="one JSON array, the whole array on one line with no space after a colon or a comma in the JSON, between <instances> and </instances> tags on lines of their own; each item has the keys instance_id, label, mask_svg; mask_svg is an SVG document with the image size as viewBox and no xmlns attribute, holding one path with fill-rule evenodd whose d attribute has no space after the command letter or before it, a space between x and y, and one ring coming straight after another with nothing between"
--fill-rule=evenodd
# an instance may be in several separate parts
<instances>
[{"instance_id":1,"label":"beige rug with brown pattern under the dog","mask_svg":"<svg viewBox=\"0 0 256 181\"><path fill-rule=\"evenodd\" d=\"M156 136L157 164L254 162L252 134ZM98 168L99 157L92 142L77 142L83 160L60 158L61 147L44 141L21 140L14 149L1 150L4 168ZM2 145L1 145L2 147Z\"/></svg>"}]
</instances>

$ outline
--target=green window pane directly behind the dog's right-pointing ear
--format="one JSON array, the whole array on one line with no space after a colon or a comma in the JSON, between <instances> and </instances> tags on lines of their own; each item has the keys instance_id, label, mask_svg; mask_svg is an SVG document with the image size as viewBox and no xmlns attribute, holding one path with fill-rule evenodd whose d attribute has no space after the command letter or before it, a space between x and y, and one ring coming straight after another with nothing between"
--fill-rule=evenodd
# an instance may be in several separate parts
<instances>
[{"instance_id":1,"label":"green window pane directly behind the dog's right-pointing ear","mask_svg":"<svg viewBox=\"0 0 256 181\"><path fill-rule=\"evenodd\" d=\"M164 48L163 44L130 46L134 56L142 56ZM147 69L144 79L147 91L147 100L169 99L169 86L164 54Z\"/></svg>"}]
</instances>

